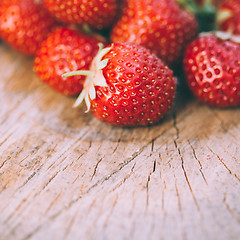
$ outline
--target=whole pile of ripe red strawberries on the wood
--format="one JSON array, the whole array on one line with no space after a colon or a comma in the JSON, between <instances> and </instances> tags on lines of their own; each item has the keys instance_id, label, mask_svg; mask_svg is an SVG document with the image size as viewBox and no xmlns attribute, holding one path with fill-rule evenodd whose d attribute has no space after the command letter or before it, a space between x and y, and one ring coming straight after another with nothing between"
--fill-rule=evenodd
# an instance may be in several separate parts
<instances>
[{"instance_id":1,"label":"whole pile of ripe red strawberries on the wood","mask_svg":"<svg viewBox=\"0 0 240 240\"><path fill-rule=\"evenodd\" d=\"M159 122L179 68L200 101L240 105L239 0L1 0L0 38L112 125Z\"/></svg>"}]
</instances>

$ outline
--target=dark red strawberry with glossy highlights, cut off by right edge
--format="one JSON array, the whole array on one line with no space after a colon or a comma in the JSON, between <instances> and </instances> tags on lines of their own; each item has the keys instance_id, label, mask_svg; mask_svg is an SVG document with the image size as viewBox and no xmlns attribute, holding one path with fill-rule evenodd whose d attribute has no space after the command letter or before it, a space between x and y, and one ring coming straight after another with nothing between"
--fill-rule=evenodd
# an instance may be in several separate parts
<instances>
[{"instance_id":1,"label":"dark red strawberry with glossy highlights, cut off by right edge","mask_svg":"<svg viewBox=\"0 0 240 240\"><path fill-rule=\"evenodd\" d=\"M217 32L198 37L189 44L184 70L193 94L215 107L240 104L239 38Z\"/></svg>"}]
</instances>

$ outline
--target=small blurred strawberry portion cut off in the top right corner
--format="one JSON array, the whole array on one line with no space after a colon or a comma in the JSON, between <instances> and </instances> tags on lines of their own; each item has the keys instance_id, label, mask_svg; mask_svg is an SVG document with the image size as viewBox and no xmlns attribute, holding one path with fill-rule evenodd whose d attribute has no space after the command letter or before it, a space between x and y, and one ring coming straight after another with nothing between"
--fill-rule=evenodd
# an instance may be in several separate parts
<instances>
[{"instance_id":1,"label":"small blurred strawberry portion cut off in the top right corner","mask_svg":"<svg viewBox=\"0 0 240 240\"><path fill-rule=\"evenodd\" d=\"M217 23L222 31L240 34L240 1L224 1L218 8Z\"/></svg>"}]
</instances>

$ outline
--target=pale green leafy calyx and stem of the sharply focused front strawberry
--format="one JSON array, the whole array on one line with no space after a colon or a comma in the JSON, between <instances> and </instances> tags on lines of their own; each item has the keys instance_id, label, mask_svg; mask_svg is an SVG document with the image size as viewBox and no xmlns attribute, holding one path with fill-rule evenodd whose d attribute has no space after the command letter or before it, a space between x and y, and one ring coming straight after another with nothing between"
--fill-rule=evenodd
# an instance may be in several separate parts
<instances>
[{"instance_id":1,"label":"pale green leafy calyx and stem of the sharply focused front strawberry","mask_svg":"<svg viewBox=\"0 0 240 240\"><path fill-rule=\"evenodd\" d=\"M108 59L102 60L102 58L112 49L112 46L103 48L103 44L99 43L99 51L94 57L90 70L80 70L64 73L62 77L86 76L85 82L83 84L83 90L75 101L73 107L78 107L84 100L87 105L86 112L89 112L91 103L90 100L96 98L95 86L107 87L106 79L103 75L103 69L107 66Z\"/></svg>"}]
</instances>

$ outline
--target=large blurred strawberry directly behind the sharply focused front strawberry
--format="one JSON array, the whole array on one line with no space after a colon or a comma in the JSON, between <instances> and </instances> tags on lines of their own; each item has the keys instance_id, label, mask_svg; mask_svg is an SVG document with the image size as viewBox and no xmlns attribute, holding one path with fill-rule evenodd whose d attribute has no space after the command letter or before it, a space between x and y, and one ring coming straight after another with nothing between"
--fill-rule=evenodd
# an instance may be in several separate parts
<instances>
[{"instance_id":1,"label":"large blurred strawberry directly behind the sharply focused front strawberry","mask_svg":"<svg viewBox=\"0 0 240 240\"><path fill-rule=\"evenodd\" d=\"M175 0L128 0L111 40L145 46L171 65L196 33L193 14Z\"/></svg>"}]
</instances>

